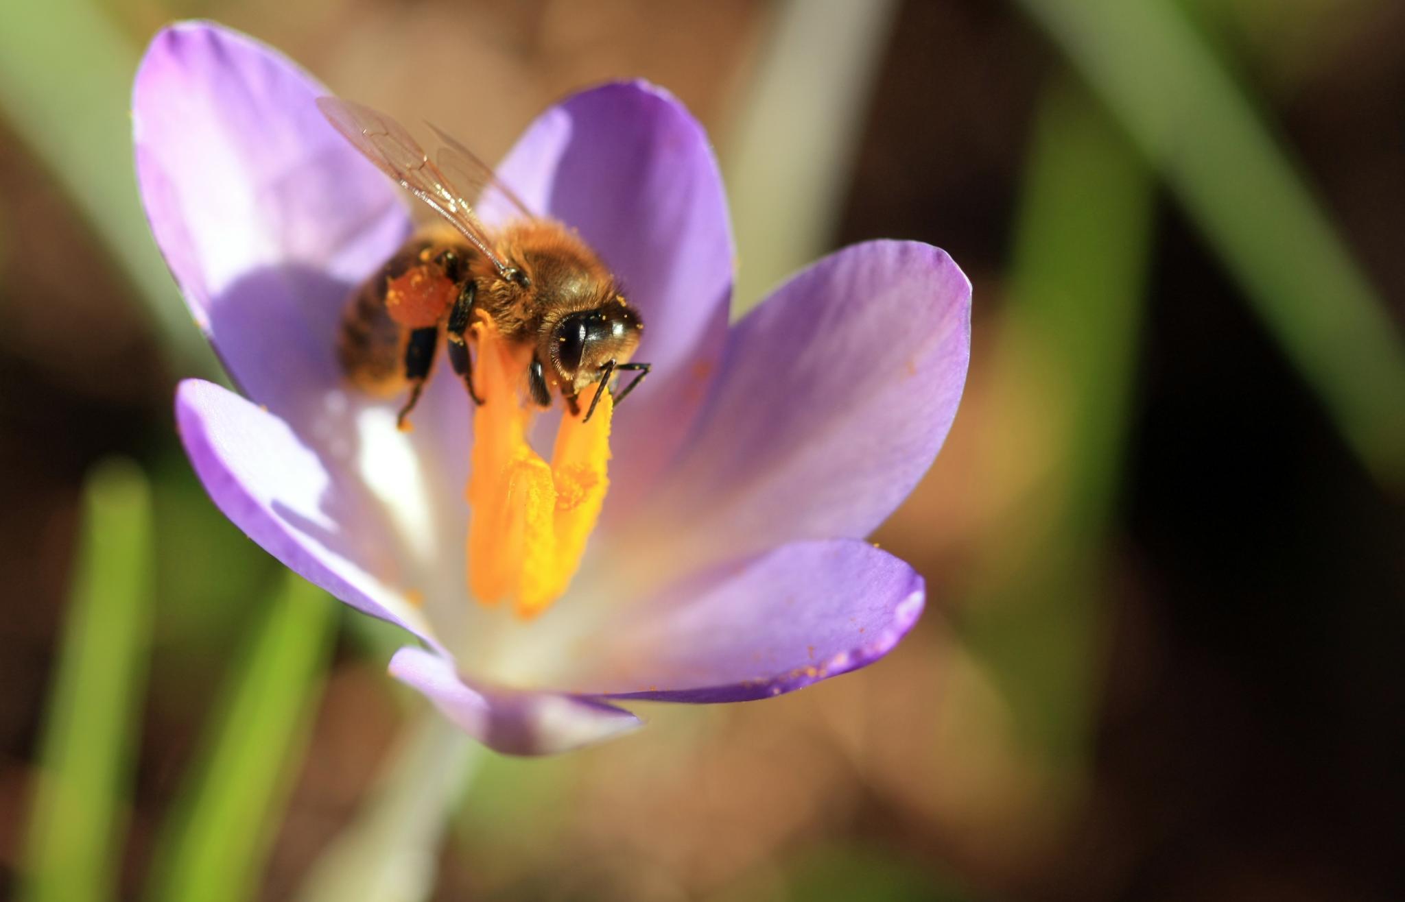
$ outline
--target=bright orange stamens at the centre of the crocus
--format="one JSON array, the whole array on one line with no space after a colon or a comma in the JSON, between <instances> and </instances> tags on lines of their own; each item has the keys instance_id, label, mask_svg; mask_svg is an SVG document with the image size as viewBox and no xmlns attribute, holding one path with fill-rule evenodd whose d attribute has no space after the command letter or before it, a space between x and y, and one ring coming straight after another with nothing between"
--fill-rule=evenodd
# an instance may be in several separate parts
<instances>
[{"instance_id":1,"label":"bright orange stamens at the centre of the crocus","mask_svg":"<svg viewBox=\"0 0 1405 902\"><path fill-rule=\"evenodd\" d=\"M532 410L517 394L531 349L504 342L486 318L473 335L483 403L473 412L468 478L468 588L481 602L511 602L530 619L570 585L600 518L614 404L604 393L587 424L565 412L548 466L527 443Z\"/></svg>"}]
</instances>

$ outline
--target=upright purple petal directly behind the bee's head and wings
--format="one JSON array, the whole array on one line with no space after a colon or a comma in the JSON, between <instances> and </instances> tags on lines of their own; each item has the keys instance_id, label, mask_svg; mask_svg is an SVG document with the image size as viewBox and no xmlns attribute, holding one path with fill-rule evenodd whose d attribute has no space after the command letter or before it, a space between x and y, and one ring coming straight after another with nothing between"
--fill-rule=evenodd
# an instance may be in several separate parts
<instances>
[{"instance_id":1,"label":"upright purple petal directly behind the bee's head and wings","mask_svg":"<svg viewBox=\"0 0 1405 902\"><path fill-rule=\"evenodd\" d=\"M722 354L735 250L717 160L681 104L632 81L545 112L499 171L580 230L643 317L635 361L653 372L614 421L617 516L677 452Z\"/></svg>"}]
</instances>

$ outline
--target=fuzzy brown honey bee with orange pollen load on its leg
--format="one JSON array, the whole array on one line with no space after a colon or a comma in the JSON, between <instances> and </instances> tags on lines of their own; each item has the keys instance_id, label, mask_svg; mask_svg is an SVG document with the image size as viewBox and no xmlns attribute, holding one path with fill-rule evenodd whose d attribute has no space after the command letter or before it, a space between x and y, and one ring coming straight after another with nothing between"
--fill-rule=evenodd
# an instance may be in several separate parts
<instances>
[{"instance_id":1,"label":"fuzzy brown honey bee with orange pollen load on its leg","mask_svg":"<svg viewBox=\"0 0 1405 902\"><path fill-rule=\"evenodd\" d=\"M629 359L643 328L639 313L580 236L534 216L492 168L434 126L431 157L385 114L334 97L318 98L318 108L382 173L452 226L410 237L354 292L341 317L337 358L347 377L379 396L409 387L400 428L407 428L441 339L469 397L482 404L468 344L479 313L506 341L531 348L525 380L540 407L551 407L559 391L579 414L580 393L596 384L589 421L615 373L636 373L617 404L648 376L649 363ZM496 230L483 226L468 201L489 187L518 213Z\"/></svg>"}]
</instances>

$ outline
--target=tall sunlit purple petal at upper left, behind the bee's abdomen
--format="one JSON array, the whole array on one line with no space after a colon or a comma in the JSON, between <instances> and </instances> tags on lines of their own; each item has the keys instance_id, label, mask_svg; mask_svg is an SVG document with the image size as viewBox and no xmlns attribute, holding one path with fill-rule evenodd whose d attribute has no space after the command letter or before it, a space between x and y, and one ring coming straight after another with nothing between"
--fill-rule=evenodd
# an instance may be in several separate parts
<instances>
[{"instance_id":1,"label":"tall sunlit purple petal at upper left, behind the bee's abdomen","mask_svg":"<svg viewBox=\"0 0 1405 902\"><path fill-rule=\"evenodd\" d=\"M277 51L188 22L156 35L132 95L166 262L229 373L285 415L337 384L347 295L410 229L399 189L313 105L326 93Z\"/></svg>"}]
</instances>

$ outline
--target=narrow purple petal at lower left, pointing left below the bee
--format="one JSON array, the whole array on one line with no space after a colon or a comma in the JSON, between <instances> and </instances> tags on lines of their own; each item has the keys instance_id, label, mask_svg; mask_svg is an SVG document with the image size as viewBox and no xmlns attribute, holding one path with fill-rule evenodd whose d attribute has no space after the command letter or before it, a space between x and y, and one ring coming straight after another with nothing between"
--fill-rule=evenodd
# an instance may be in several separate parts
<instances>
[{"instance_id":1,"label":"narrow purple petal at lower left, pointing left below the bee","mask_svg":"<svg viewBox=\"0 0 1405 902\"><path fill-rule=\"evenodd\" d=\"M197 379L176 391L176 425L215 505L287 567L353 607L434 641L403 592L405 563L358 483L275 415ZM348 529L348 525L355 529Z\"/></svg>"}]
</instances>

